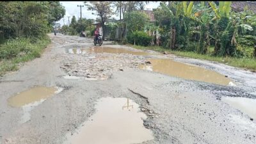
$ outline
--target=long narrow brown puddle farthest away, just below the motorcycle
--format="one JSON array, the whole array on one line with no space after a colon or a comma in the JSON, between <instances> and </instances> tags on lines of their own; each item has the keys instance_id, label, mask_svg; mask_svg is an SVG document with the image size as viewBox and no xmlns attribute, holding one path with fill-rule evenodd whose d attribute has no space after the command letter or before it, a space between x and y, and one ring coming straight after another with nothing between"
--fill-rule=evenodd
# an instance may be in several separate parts
<instances>
[{"instance_id":1,"label":"long narrow brown puddle farthest away, just below the motorcycle","mask_svg":"<svg viewBox=\"0 0 256 144\"><path fill-rule=\"evenodd\" d=\"M134 54L134 55L140 55L145 56L148 55L147 52L140 52L140 51L129 51L127 49L116 49L112 47L92 47L90 49L80 49L80 48L72 48L68 49L68 53L70 54L86 54L86 53L115 53L115 54Z\"/></svg>"}]
</instances>

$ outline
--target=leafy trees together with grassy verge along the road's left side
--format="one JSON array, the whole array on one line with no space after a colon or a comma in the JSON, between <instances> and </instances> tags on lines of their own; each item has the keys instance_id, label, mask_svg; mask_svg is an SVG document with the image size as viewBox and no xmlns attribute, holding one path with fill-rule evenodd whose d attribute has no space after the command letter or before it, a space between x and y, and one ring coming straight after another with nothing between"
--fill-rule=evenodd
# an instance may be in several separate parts
<instances>
[{"instance_id":1,"label":"leafy trees together with grassy verge along the road's left side","mask_svg":"<svg viewBox=\"0 0 256 144\"><path fill-rule=\"evenodd\" d=\"M17 70L24 62L40 57L50 44L47 33L65 15L54 1L0 2L0 76Z\"/></svg>"}]
</instances>

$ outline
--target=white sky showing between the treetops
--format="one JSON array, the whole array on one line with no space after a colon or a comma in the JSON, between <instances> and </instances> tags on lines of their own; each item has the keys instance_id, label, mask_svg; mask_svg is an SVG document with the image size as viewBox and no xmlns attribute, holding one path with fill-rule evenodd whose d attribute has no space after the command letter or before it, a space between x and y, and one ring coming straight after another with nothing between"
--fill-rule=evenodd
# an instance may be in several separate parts
<instances>
[{"instance_id":1,"label":"white sky showing between the treetops","mask_svg":"<svg viewBox=\"0 0 256 144\"><path fill-rule=\"evenodd\" d=\"M69 22L71 22L71 19L73 17L73 15L75 15L76 20L78 19L78 17L80 17L80 6L77 5L84 5L83 1L60 1L60 3L65 7L66 9L66 15L63 17L65 25L68 24L68 17L69 17ZM152 2L150 1L148 4L145 5L144 10L152 10L152 8L157 8L157 6L160 5L160 1L157 2ZM113 12L115 12L115 8L112 7ZM87 7L84 6L82 7L82 17L86 18L86 19L96 19L96 15L92 14L93 11L87 10ZM95 12L94 12L95 13ZM113 15L112 17L114 17L115 19L120 19L120 15ZM58 21L58 23L61 24L61 26L63 26L63 19L61 19L60 21ZM122 17L123 19L123 17Z\"/></svg>"}]
</instances>

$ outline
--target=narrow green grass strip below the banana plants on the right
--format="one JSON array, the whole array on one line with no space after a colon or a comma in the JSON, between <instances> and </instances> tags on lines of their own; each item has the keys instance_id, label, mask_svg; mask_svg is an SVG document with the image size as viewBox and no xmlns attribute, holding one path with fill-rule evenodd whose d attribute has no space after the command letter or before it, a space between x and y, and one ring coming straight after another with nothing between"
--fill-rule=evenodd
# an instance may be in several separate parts
<instances>
[{"instance_id":1,"label":"narrow green grass strip below the banana plants on the right","mask_svg":"<svg viewBox=\"0 0 256 144\"><path fill-rule=\"evenodd\" d=\"M183 56L188 58L195 58L200 60L209 60L209 61L217 61L220 63L225 63L227 65L233 66L233 67L239 67L239 68L245 68L248 70L251 70L253 72L256 71L256 58L232 58L232 57L218 57L218 56L212 56L211 53L213 51L213 47L210 47L209 52L207 54L198 54L196 52L188 52L188 51L171 51L169 49L164 49L163 47L157 47L157 46L138 46L138 45L130 45L136 49L142 49L142 50L152 50L152 51L158 51L158 52L169 52L171 54L175 54L177 56Z\"/></svg>"}]
</instances>

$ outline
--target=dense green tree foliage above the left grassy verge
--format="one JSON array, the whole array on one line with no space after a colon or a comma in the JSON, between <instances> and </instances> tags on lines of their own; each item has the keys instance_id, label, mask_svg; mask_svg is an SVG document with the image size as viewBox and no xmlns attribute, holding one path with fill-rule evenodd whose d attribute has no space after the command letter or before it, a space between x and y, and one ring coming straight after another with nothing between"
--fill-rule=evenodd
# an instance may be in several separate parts
<instances>
[{"instance_id":1,"label":"dense green tree foliage above the left grassy verge","mask_svg":"<svg viewBox=\"0 0 256 144\"><path fill-rule=\"evenodd\" d=\"M56 3L56 2L54 2ZM0 31L4 38L20 36L42 37L51 29L53 20L63 17L65 9L48 1L1 2ZM60 11L56 11L60 9ZM64 10L64 11L63 11Z\"/></svg>"}]
</instances>

